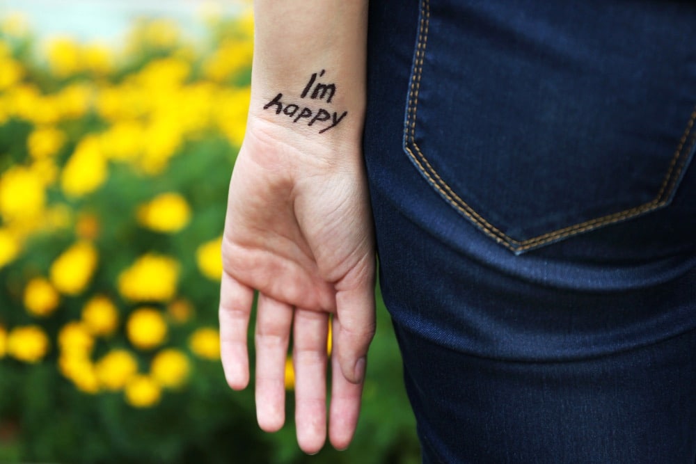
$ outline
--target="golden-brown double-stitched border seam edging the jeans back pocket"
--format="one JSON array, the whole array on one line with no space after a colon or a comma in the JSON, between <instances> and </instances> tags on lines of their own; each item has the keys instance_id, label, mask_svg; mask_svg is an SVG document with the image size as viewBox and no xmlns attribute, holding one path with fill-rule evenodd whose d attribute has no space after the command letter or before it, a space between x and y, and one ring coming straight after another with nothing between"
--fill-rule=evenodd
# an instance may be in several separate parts
<instances>
[{"instance_id":1,"label":"golden-brown double-stitched border seam edging the jeans back pocket","mask_svg":"<svg viewBox=\"0 0 696 464\"><path fill-rule=\"evenodd\" d=\"M427 47L428 32L429 32L429 22L430 22L430 1L420 0L420 24L418 29L418 42L416 45L416 56L413 60L413 70L411 72L411 85L409 90L409 102L406 110L406 124L404 127L404 150L411 158L414 164L418 167L422 175L425 175L429 184L434 186L434 188L461 214L464 214L470 221L472 221L477 227L479 227L482 232L487 234L489 237L494 239L496 242L505 246L514 253L522 253L523 251L530 250L532 248L537 248L539 246L544 246L552 241L557 241L571 237L582 232L587 232L589 230L596 229L603 225L610 225L612 223L617 223L619 221L624 221L626 219L639 216L640 214L648 213L649 211L654 211L655 209L661 208L667 205L672 199L672 194L677 189L677 184L679 184L679 179L681 178L681 173L686 166L690 152L693 151L694 145L696 143L696 133L691 134L694 122L696 120L696 107L690 115L690 118L686 124L686 129L684 129L677 150L674 151L674 156L670 161L670 166L667 168L667 173L663 178L663 182L660 189L654 198L643 205L638 205L637 207L624 209L623 211L618 211L616 213L608 214L606 216L600 216L599 218L593 218L582 223L577 223L574 225L569 225L568 227L563 227L552 232L547 232L546 234L541 234L537 237L532 237L525 240L516 240L505 232L500 231L494 225L491 225L485 218L477 213L472 207L470 207L464 200L462 200L457 193L455 193L450 185L445 182L445 180L440 177L437 171L428 161L425 154L420 150L418 143L416 143L416 118L418 113L418 94L420 92L420 80L423 71L423 62L425 61L425 49ZM688 150L684 150L687 145ZM413 152L416 152L414 154ZM424 166L425 165L425 166Z\"/></svg>"}]
</instances>

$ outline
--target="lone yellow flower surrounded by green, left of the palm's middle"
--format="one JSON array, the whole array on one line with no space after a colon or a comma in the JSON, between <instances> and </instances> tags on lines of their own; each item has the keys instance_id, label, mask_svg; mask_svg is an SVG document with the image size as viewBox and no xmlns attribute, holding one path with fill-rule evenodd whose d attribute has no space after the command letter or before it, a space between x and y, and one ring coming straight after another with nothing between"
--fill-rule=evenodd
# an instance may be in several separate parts
<instances>
[{"instance_id":1,"label":"lone yellow flower surrounded by green, left of the palm's middle","mask_svg":"<svg viewBox=\"0 0 696 464\"><path fill-rule=\"evenodd\" d=\"M178 232L190 217L189 204L173 192L161 193L138 208L138 222L156 232Z\"/></svg>"}]
</instances>

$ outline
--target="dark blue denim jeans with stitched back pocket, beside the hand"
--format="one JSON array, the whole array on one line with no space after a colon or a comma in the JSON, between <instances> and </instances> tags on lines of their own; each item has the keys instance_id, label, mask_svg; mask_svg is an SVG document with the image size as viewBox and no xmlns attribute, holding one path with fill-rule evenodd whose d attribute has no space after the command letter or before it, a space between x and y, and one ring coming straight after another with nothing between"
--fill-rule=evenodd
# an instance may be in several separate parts
<instances>
[{"instance_id":1,"label":"dark blue denim jeans with stitched back pocket, beside the hand","mask_svg":"<svg viewBox=\"0 0 696 464\"><path fill-rule=\"evenodd\" d=\"M696 3L372 0L365 159L425 462L696 461Z\"/></svg>"}]
</instances>

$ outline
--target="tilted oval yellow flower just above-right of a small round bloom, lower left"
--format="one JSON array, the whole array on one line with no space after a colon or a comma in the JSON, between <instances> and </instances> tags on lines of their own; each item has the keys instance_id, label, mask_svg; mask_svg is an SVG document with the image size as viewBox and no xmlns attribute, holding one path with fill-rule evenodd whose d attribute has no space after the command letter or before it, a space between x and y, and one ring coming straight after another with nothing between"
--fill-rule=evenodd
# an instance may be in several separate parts
<instances>
[{"instance_id":1,"label":"tilted oval yellow flower just above-right of a small round bloom, lower left","mask_svg":"<svg viewBox=\"0 0 696 464\"><path fill-rule=\"evenodd\" d=\"M85 289L97 267L97 249L79 241L65 250L51 265L51 282L63 294L77 295Z\"/></svg>"}]
</instances>

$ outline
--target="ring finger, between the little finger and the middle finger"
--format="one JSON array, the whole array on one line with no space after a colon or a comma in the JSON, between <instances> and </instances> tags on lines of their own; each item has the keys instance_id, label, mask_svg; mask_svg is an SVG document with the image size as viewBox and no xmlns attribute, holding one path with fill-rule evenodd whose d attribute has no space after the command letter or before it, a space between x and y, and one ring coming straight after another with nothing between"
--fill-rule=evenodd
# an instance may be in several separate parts
<instances>
[{"instance_id":1,"label":"ring finger, between the little finger and the middle finger","mask_svg":"<svg viewBox=\"0 0 696 464\"><path fill-rule=\"evenodd\" d=\"M256 417L261 429L275 432L285 422L285 358L292 306L259 295L256 312Z\"/></svg>"}]
</instances>

